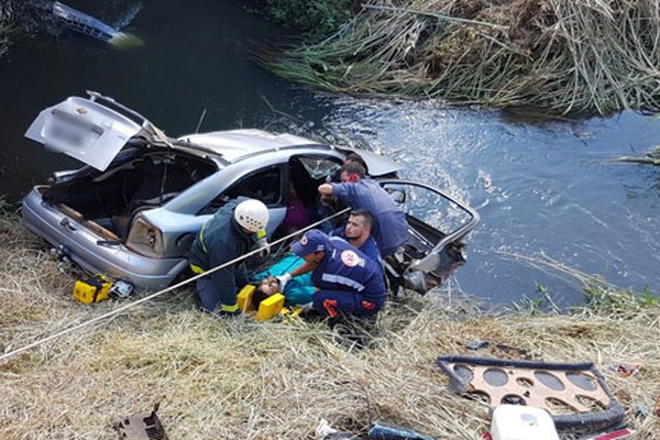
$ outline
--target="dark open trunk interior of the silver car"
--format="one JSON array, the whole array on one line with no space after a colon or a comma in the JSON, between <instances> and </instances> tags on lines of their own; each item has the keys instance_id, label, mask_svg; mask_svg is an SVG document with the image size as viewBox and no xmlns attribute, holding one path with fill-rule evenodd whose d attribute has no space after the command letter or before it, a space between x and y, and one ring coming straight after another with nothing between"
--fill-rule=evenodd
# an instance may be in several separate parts
<instances>
[{"instance_id":1,"label":"dark open trunk interior of the silver car","mask_svg":"<svg viewBox=\"0 0 660 440\"><path fill-rule=\"evenodd\" d=\"M44 201L105 240L124 240L135 215L157 208L217 170L202 158L153 151L110 166L67 175L43 191Z\"/></svg>"}]
</instances>

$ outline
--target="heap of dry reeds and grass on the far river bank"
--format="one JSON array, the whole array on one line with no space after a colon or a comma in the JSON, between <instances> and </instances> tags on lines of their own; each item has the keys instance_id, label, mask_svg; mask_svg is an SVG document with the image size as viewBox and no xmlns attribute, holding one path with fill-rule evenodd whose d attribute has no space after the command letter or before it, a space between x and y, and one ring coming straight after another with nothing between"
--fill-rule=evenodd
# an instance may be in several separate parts
<instances>
[{"instance_id":1,"label":"heap of dry reeds and grass on the far river bank","mask_svg":"<svg viewBox=\"0 0 660 440\"><path fill-rule=\"evenodd\" d=\"M652 0L380 0L263 62L331 91L608 114L658 111L659 41Z\"/></svg>"}]
</instances>

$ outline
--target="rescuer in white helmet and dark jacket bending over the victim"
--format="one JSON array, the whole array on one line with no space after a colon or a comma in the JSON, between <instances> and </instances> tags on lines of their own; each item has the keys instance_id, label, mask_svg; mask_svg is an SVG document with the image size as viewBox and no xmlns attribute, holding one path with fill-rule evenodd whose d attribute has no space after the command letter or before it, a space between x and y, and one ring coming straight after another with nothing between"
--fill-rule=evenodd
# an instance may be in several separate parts
<instances>
[{"instance_id":1,"label":"rescuer in white helmet and dark jacket bending over the victim","mask_svg":"<svg viewBox=\"0 0 660 440\"><path fill-rule=\"evenodd\" d=\"M188 261L196 274L228 263L265 242L268 209L260 200L239 197L218 209L199 230ZM230 264L197 279L201 307L220 315L240 314L237 293L248 283L244 262Z\"/></svg>"}]
</instances>

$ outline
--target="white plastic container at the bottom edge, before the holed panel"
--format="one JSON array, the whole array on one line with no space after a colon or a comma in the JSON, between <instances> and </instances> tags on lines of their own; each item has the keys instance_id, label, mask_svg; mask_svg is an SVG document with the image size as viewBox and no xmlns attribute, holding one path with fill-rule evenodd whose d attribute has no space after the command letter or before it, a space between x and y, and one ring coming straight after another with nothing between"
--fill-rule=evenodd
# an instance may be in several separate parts
<instances>
[{"instance_id":1,"label":"white plastic container at the bottom edge, before the holed panel","mask_svg":"<svg viewBox=\"0 0 660 440\"><path fill-rule=\"evenodd\" d=\"M493 440L559 440L552 417L541 408L501 405L493 411Z\"/></svg>"}]
</instances>

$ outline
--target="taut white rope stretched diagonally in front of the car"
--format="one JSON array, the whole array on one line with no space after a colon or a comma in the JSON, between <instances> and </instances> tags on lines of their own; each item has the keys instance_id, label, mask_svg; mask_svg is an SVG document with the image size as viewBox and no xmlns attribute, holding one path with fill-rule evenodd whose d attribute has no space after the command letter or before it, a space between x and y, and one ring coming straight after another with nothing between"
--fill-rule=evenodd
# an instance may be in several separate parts
<instances>
[{"instance_id":1,"label":"taut white rope stretched diagonally in front of the car","mask_svg":"<svg viewBox=\"0 0 660 440\"><path fill-rule=\"evenodd\" d=\"M337 213L334 213L334 215L332 215L330 217L326 217L324 219L317 221L316 223L311 223L310 226L305 227L305 228L300 229L299 231L296 231L296 232L290 233L290 234L288 234L286 237L283 237L282 239L275 240L273 243L268 243L268 246L273 246L275 244L282 243L282 242L284 242L284 241L286 241L286 240L288 240L288 239L290 239L290 238L293 238L293 237L295 237L295 235L297 235L297 234L299 234L301 232L307 231L308 229L312 229L314 227L317 227L317 226L321 224L326 220L330 220L330 219L333 219L334 217L341 216L342 213L348 212L350 209L351 208L345 208L345 209L343 209L343 210L341 210L341 211L339 211L339 212L337 212ZM256 254L258 252L262 252L262 249L255 249L254 251L250 251L246 254L243 254L243 255L241 255L241 256L239 256L239 257L237 257L237 258L234 258L232 261L229 261L229 262L223 263L223 264L221 264L219 266L212 267L212 268L210 268L210 270L208 270L208 271L206 271L206 272L204 272L201 274L197 274L197 275L195 275L195 276L193 276L190 278L184 279L183 282L177 283L177 284L175 284L173 286L166 287L163 290L158 290L158 292L156 292L154 294L145 296L144 298L140 298L140 299L138 299L138 300L135 300L135 301L133 301L131 304L127 304L125 306L122 306L122 307L120 307L118 309L109 311L109 312L107 312L105 315L101 315L101 316L92 318L92 319L90 319L88 321L81 322L81 323L79 323L79 324L77 324L75 327L70 327L68 329L61 330L61 331L58 331L58 332L56 332L54 334L51 334L50 337L46 337L46 338L40 339L37 341L34 341L34 342L32 342L32 343L30 343L28 345L21 346L20 349L10 351L9 353L4 353L4 354L0 355L0 362L7 361L10 358L15 356L16 354L20 354L20 353L23 353L23 352L25 352L28 350L34 349L35 346L42 345L42 344L44 344L46 342L50 342L50 341L52 341L54 339L57 339L57 338L61 338L61 337L63 337L65 334L72 333L72 332L74 332L76 330L79 330L79 329L81 329L84 327L91 326L92 323L96 323L96 322L102 321L103 319L107 319L107 318L110 318L112 316L119 315L119 314L121 314L124 310L128 310L128 309L130 309L132 307L139 306L142 302L146 302L146 301L148 301L151 299L154 299L154 298L156 298L156 297L158 297L161 295L164 295L164 294L166 294L168 292L177 289L177 288L179 288L182 286L185 286L188 283L193 283L194 280L197 280L197 279L201 278L202 276L207 276L209 274L212 274L216 271L220 271L221 268L224 268L224 267L230 266L230 265L232 265L234 263L238 263L241 260L244 260L244 258L246 258L249 256L252 256L252 255L254 255L254 254Z\"/></svg>"}]
</instances>

